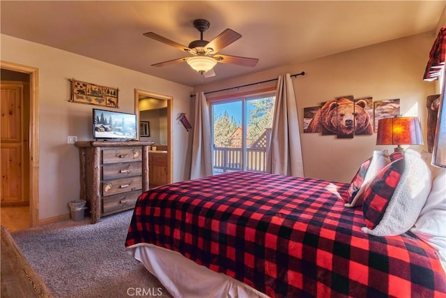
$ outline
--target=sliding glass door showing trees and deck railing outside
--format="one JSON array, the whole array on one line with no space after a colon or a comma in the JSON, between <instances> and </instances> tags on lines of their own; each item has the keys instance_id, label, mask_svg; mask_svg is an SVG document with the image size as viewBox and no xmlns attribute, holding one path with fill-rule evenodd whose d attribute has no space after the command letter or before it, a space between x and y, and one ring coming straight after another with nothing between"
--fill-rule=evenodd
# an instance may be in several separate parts
<instances>
[{"instance_id":1,"label":"sliding glass door showing trees and deck railing outside","mask_svg":"<svg viewBox=\"0 0 446 298\"><path fill-rule=\"evenodd\" d=\"M275 96L211 103L213 172L266 171Z\"/></svg>"}]
</instances>

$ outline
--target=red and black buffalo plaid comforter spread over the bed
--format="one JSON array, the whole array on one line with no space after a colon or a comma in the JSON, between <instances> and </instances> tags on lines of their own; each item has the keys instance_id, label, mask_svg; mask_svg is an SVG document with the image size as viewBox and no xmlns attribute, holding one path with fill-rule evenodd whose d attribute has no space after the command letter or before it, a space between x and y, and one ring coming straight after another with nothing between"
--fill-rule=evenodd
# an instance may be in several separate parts
<instances>
[{"instance_id":1,"label":"red and black buffalo plaid comforter spread over the bed","mask_svg":"<svg viewBox=\"0 0 446 298\"><path fill-rule=\"evenodd\" d=\"M125 246L178 251L271 297L444 297L435 251L360 230L348 184L233 172L160 186L137 201Z\"/></svg>"}]
</instances>

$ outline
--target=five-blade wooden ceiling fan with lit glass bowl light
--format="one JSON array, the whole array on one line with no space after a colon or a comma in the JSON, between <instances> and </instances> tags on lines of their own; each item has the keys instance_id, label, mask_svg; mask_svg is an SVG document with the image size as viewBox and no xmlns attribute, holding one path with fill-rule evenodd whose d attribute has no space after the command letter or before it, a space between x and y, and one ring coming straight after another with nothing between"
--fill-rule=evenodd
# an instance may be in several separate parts
<instances>
[{"instance_id":1,"label":"five-blade wooden ceiling fan with lit glass bowl light","mask_svg":"<svg viewBox=\"0 0 446 298\"><path fill-rule=\"evenodd\" d=\"M210 22L207 20L199 19L194 20L194 27L200 31L200 39L192 41L189 46L181 45L173 40L158 35L157 33L147 32L144 36L160 41L172 47L176 47L178 50L191 54L192 57L183 57L174 60L164 61L152 66L167 66L170 64L176 64L178 62L186 61L192 69L197 70L201 75L209 70L212 70L217 63L235 64L240 66L256 66L259 59L238 57L225 54L217 54L224 47L227 47L234 41L238 40L242 36L231 29L226 29L220 35L213 40L203 40L203 32L208 30ZM206 76L206 75L205 75Z\"/></svg>"}]
</instances>

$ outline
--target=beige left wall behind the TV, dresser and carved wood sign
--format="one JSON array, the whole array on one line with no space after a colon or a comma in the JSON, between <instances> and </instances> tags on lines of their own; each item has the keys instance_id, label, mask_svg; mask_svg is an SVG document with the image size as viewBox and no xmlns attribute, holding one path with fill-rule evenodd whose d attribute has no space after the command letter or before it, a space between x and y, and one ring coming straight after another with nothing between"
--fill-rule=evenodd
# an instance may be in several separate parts
<instances>
[{"instance_id":1,"label":"beige left wall behind the TV, dresser and carved wood sign","mask_svg":"<svg viewBox=\"0 0 446 298\"><path fill-rule=\"evenodd\" d=\"M40 220L68 214L68 202L79 199L79 156L68 135L91 140L91 109L70 103L71 78L119 88L119 111L134 112L134 89L172 96L173 115L190 113L191 87L89 59L45 45L1 35L1 60L39 69L39 215ZM184 144L189 140L173 125L174 181L187 179ZM187 163L186 163L187 164Z\"/></svg>"}]
</instances>

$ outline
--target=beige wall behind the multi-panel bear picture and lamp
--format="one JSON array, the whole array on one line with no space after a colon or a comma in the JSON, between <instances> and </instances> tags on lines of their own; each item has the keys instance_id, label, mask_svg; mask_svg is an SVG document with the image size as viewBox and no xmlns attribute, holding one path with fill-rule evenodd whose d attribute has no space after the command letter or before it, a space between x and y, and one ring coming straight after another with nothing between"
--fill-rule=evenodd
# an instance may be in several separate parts
<instances>
[{"instance_id":1,"label":"beige wall behind the multi-panel bear picture and lamp","mask_svg":"<svg viewBox=\"0 0 446 298\"><path fill-rule=\"evenodd\" d=\"M372 151L393 151L393 146L376 146L376 134L337 139L330 135L302 133L304 107L313 107L325 100L344 95L353 95L355 98L372 96L373 100L400 98L401 113L421 117L425 128L426 96L436 93L434 83L422 80L433 40L432 34L419 34L305 63L290 64L255 75L237 77L219 84L204 85L194 88L194 91L213 91L269 80L281 73L305 71L305 76L293 79L300 117L305 177L349 182ZM270 85L261 84L250 88L262 89ZM239 91L247 90L248 88ZM212 94L219 95L221 94ZM424 139L426 140L426 136ZM414 149L421 150L423 147L417 146Z\"/></svg>"}]
</instances>

